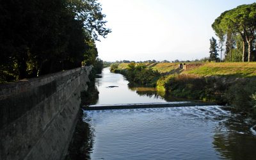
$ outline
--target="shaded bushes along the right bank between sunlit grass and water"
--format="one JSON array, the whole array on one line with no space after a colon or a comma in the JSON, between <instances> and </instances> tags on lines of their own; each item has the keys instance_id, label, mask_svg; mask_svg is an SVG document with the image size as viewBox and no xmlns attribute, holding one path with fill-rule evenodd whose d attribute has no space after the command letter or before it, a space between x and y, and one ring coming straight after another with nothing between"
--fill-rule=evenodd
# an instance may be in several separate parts
<instances>
[{"instance_id":1,"label":"shaded bushes along the right bank between sunlit grass and water","mask_svg":"<svg viewBox=\"0 0 256 160\"><path fill-rule=\"evenodd\" d=\"M129 83L134 83L127 74L127 68L116 68L111 72L123 74ZM256 77L196 76L175 73L162 74L154 81L162 96L172 95L191 100L215 102L229 106L232 111L256 116Z\"/></svg>"}]
</instances>

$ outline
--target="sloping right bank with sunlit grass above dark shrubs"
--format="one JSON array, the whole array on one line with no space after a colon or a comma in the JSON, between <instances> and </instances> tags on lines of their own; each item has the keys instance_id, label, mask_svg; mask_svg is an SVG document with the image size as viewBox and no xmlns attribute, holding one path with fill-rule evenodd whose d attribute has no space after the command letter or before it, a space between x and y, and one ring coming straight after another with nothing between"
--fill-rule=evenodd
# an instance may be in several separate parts
<instances>
[{"instance_id":1,"label":"sloping right bank with sunlit grass above dark shrubs","mask_svg":"<svg viewBox=\"0 0 256 160\"><path fill-rule=\"evenodd\" d=\"M157 76L147 76L143 70L133 73L136 83L147 77L158 90L168 95L194 100L228 104L237 111L256 113L256 63L134 63L145 70L152 70ZM115 72L129 78L131 66L121 63ZM141 83L147 84L147 83ZM152 83L151 83L152 84Z\"/></svg>"}]
</instances>

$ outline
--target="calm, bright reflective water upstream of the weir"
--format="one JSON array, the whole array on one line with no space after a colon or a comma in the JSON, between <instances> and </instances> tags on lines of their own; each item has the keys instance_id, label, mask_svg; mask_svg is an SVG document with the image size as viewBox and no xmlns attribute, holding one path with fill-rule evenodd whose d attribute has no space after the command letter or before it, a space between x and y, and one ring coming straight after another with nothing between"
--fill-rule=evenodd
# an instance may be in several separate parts
<instances>
[{"instance_id":1,"label":"calm, bright reflective water upstream of the weir","mask_svg":"<svg viewBox=\"0 0 256 160\"><path fill-rule=\"evenodd\" d=\"M155 88L128 87L128 81L122 74L113 74L109 68L104 68L99 78L95 79L95 85L99 91L99 100L97 104L131 104L131 103L150 103L166 102L160 96L157 96ZM116 86L116 87L109 87ZM144 92L138 95L136 92ZM147 94L148 93L148 94ZM150 94L151 93L151 94ZM150 95L148 97L147 95Z\"/></svg>"}]
</instances>

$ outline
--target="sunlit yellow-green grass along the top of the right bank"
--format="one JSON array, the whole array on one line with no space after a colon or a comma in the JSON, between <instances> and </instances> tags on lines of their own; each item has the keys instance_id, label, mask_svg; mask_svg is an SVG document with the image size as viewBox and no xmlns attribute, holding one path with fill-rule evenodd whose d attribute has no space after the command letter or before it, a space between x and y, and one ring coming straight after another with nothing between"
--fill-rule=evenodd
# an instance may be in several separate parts
<instances>
[{"instance_id":1,"label":"sunlit yellow-green grass along the top of the right bank","mask_svg":"<svg viewBox=\"0 0 256 160\"><path fill-rule=\"evenodd\" d=\"M129 63L120 63L118 68L127 68ZM234 76L254 77L256 76L256 62L233 62L233 63L186 63L187 70L179 68L179 63L145 63L147 67L158 70L160 73L170 74L194 74L196 76Z\"/></svg>"}]
</instances>

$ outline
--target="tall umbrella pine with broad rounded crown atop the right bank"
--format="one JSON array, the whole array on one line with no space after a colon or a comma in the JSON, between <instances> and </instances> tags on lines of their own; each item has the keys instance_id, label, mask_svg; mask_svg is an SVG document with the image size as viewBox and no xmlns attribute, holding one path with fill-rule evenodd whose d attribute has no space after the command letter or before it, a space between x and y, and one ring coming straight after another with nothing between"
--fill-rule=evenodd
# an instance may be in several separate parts
<instances>
[{"instance_id":1,"label":"tall umbrella pine with broad rounded crown atop the right bank","mask_svg":"<svg viewBox=\"0 0 256 160\"><path fill-rule=\"evenodd\" d=\"M248 61L252 60L252 42L255 39L256 31L256 3L244 4L221 13L220 17L212 24L212 28L219 38L228 33L241 35L243 39L243 61L245 61L246 55L248 55ZM248 45L248 54L245 54L246 44Z\"/></svg>"}]
</instances>

